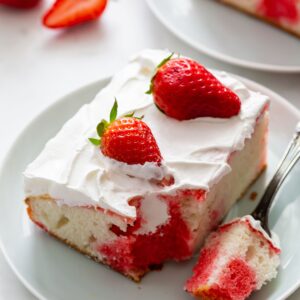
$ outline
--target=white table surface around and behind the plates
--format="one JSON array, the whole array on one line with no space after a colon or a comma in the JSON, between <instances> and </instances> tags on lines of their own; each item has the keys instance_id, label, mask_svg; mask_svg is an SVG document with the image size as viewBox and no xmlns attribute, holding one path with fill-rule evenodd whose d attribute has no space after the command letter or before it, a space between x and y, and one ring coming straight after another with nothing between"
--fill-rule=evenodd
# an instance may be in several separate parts
<instances>
[{"instance_id":1,"label":"white table surface around and behind the plates","mask_svg":"<svg viewBox=\"0 0 300 300\"><path fill-rule=\"evenodd\" d=\"M170 34L143 0L111 1L101 21L68 31L42 27L41 15L51 2L26 12L0 7L0 161L40 111L64 94L112 74L143 48L168 48L210 68L248 77L300 108L300 74L256 72L212 60ZM1 253L0 299L36 299ZM296 299L300 291L289 298Z\"/></svg>"}]
</instances>

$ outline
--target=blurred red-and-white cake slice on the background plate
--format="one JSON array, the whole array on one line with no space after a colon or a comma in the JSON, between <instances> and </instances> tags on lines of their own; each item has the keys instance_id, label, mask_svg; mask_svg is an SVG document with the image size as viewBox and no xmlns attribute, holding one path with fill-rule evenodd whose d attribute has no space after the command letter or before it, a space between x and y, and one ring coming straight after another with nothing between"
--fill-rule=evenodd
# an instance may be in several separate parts
<instances>
[{"instance_id":1,"label":"blurred red-and-white cake slice on the background plate","mask_svg":"<svg viewBox=\"0 0 300 300\"><path fill-rule=\"evenodd\" d=\"M300 36L299 0L219 0Z\"/></svg>"}]
</instances>

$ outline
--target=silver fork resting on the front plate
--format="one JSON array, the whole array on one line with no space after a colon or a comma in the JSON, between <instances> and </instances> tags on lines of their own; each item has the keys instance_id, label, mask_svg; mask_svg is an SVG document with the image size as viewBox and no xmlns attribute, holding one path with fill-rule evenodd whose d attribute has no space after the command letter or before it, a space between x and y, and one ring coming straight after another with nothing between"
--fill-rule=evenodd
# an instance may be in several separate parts
<instances>
[{"instance_id":1,"label":"silver fork resting on the front plate","mask_svg":"<svg viewBox=\"0 0 300 300\"><path fill-rule=\"evenodd\" d=\"M252 212L252 217L261 222L264 230L271 236L269 228L269 211L272 205L274 196L279 187L283 183L286 176L290 173L294 165L300 158L300 122L296 127L296 132L290 142L283 159L281 160L278 169L269 183L264 195L262 196L258 206Z\"/></svg>"}]
</instances>

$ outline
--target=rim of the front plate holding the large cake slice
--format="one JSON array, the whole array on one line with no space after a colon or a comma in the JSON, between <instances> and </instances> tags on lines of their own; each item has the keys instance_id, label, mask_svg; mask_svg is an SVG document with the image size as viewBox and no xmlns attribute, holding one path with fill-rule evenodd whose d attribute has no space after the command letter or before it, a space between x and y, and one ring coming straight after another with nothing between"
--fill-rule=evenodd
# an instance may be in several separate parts
<instances>
[{"instance_id":1,"label":"rim of the front plate holding the large cake slice","mask_svg":"<svg viewBox=\"0 0 300 300\"><path fill-rule=\"evenodd\" d=\"M264 85L261 85L260 83L257 83L253 80L247 79L245 77L227 72L228 74L236 77L237 79L241 80L243 83L245 83L246 85L253 85L256 86L260 91L264 91L266 92L268 95L274 95L277 99L277 101L279 101L281 104L283 104L288 111L290 111L291 113L294 113L300 121L300 110L295 107L293 104L291 104L289 101L287 101L283 96L281 96L280 94L272 91L271 89L267 88ZM107 82L109 82L109 80L112 78L112 76L106 76L106 77L102 77L101 79L98 79L96 81L93 81L91 83L82 85L64 95L62 95L61 97L59 97L57 100L55 100L54 102L52 102L50 105L46 106L44 109L42 109L39 113L37 113L32 119L31 121L29 121L27 123L27 125L24 126L24 128L22 129L21 132L19 132L19 134L16 136L14 142L10 145L10 147L8 148L6 154L4 155L2 161L0 162L0 181L5 173L5 167L7 165L7 161L9 159L9 157L11 156L11 153L14 151L14 149L17 147L18 144L18 140L20 139L20 137L22 137L29 129L30 127L41 117L43 117L44 114L47 114L47 111L49 109L53 109L55 106L58 106L59 104L61 104L65 98L69 98L72 97L72 95L77 94L79 91L82 90L88 90L91 88L95 88L99 85L105 85ZM1 190L1 188L0 188ZM1 221L0 221L1 222ZM41 300L47 300L46 296L42 295L33 285L30 284L30 281L22 276L22 274L19 273L17 267L15 266L15 264L13 263L13 261L10 259L9 254L8 254L8 250L6 249L4 242L2 241L2 237L0 234L0 251L2 251L3 256L6 260L6 262L8 263L9 267L12 269L12 271L14 272L14 274L16 275L16 277L20 280L20 282L25 286L25 288L31 292L35 297L37 297L38 299ZM289 297L290 295L292 295L298 288L300 287L300 276L299 276L299 280L298 282L292 286L290 289L288 289L281 298L277 299L277 300L284 300L287 297Z\"/></svg>"}]
</instances>

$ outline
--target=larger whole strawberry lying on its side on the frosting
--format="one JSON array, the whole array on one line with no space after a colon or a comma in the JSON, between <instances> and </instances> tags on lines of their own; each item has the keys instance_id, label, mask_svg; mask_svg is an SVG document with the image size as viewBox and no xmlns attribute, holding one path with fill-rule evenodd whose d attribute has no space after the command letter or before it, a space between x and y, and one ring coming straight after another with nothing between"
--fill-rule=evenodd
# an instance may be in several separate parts
<instances>
[{"instance_id":1,"label":"larger whole strawberry lying on its side on the frosting","mask_svg":"<svg viewBox=\"0 0 300 300\"><path fill-rule=\"evenodd\" d=\"M169 117L230 118L239 113L239 97L198 62L167 57L152 78L150 91L158 108Z\"/></svg>"}]
</instances>

